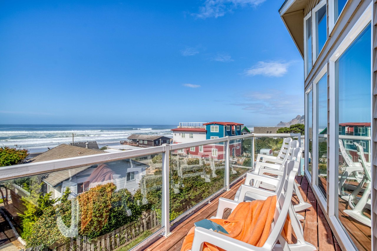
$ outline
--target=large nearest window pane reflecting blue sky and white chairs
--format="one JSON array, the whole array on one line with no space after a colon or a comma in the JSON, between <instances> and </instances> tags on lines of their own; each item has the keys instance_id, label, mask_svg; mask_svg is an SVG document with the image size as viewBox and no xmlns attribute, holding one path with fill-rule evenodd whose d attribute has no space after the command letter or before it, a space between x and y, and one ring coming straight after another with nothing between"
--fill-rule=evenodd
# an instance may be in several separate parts
<instances>
[{"instance_id":1,"label":"large nearest window pane reflecting blue sky and white chairs","mask_svg":"<svg viewBox=\"0 0 377 251\"><path fill-rule=\"evenodd\" d=\"M337 216L356 247L371 250L370 139L358 135L358 127L367 131L371 125L370 24L335 62L335 67L339 99Z\"/></svg>"}]
</instances>

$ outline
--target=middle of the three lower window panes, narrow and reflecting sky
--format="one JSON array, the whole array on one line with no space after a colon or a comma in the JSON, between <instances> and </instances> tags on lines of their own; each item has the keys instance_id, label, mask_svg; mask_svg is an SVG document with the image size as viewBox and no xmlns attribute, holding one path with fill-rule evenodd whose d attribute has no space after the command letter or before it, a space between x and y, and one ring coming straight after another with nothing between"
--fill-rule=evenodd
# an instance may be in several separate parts
<instances>
[{"instance_id":1,"label":"middle of the three lower window panes, narrow and reflecting sky","mask_svg":"<svg viewBox=\"0 0 377 251\"><path fill-rule=\"evenodd\" d=\"M318 187L326 197L327 188L327 73L317 83Z\"/></svg>"}]
</instances>

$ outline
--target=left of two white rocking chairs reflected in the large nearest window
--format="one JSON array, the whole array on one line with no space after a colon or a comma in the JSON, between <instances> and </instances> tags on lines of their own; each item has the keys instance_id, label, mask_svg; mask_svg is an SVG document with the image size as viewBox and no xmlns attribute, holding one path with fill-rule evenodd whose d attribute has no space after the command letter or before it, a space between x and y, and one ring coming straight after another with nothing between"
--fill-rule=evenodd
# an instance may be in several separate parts
<instances>
[{"instance_id":1,"label":"left of two white rocking chairs reflected in the large nearest window","mask_svg":"<svg viewBox=\"0 0 377 251\"><path fill-rule=\"evenodd\" d=\"M354 173L356 181L360 183L361 180L363 179L363 175L360 175L359 172L363 172L364 169L363 169L363 167L360 163L353 162L352 159L349 158L348 153L346 152L346 149L344 148L343 142L342 142L341 139L339 139L339 149L340 149L340 153L341 153L341 155L342 155L342 157L343 157L343 159L344 159L344 161L346 162L346 165L347 165L347 167L345 168L345 170L342 173L342 176L339 179L339 195L347 195L342 190L342 187L343 187L346 179L348 179L348 177L352 173ZM348 189L353 190L354 188L351 187L351 188L348 188Z\"/></svg>"}]
</instances>

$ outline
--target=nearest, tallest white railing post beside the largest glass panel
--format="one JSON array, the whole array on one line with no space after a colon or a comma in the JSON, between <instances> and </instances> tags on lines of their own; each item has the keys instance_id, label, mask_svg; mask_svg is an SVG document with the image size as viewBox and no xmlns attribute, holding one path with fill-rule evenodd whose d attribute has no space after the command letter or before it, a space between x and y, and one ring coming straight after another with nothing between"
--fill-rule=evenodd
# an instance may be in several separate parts
<instances>
[{"instance_id":1,"label":"nearest, tallest white railing post beside the largest glass panel","mask_svg":"<svg viewBox=\"0 0 377 251\"><path fill-rule=\"evenodd\" d=\"M169 170L170 170L170 145L163 144L162 153L162 224L165 227L164 236L170 234L170 198L169 198Z\"/></svg>"}]
</instances>

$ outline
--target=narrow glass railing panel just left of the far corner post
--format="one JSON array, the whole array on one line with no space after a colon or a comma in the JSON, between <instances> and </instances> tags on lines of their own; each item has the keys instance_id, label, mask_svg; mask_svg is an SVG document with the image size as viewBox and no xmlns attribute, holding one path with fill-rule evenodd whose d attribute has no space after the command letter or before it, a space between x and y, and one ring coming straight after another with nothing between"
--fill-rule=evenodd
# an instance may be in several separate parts
<instances>
[{"instance_id":1,"label":"narrow glass railing panel just left of the far corner post","mask_svg":"<svg viewBox=\"0 0 377 251\"><path fill-rule=\"evenodd\" d=\"M251 160L253 152L253 137L230 140L229 142L229 179L230 183L250 171L254 161Z\"/></svg>"}]
</instances>

